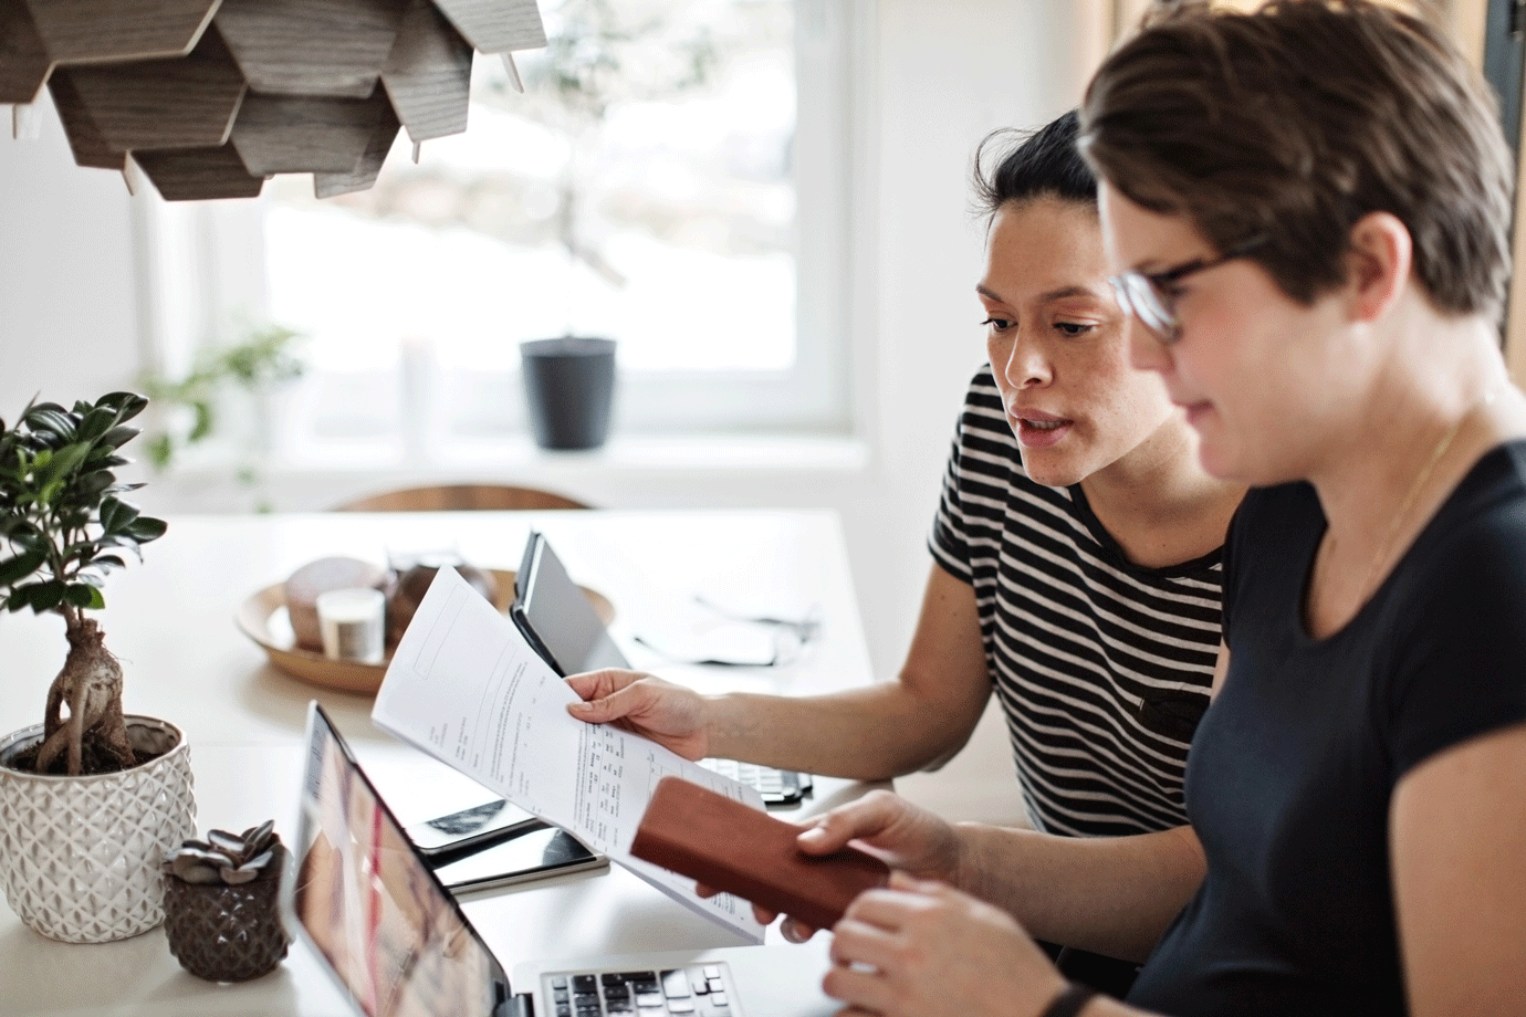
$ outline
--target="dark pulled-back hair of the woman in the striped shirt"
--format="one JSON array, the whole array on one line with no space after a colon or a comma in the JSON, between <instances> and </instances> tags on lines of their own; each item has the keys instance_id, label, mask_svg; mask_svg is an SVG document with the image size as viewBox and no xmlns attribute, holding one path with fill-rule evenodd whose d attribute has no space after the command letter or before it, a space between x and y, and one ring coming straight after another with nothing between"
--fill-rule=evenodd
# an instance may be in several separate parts
<instances>
[{"instance_id":1,"label":"dark pulled-back hair of the woman in the striped shirt","mask_svg":"<svg viewBox=\"0 0 1526 1017\"><path fill-rule=\"evenodd\" d=\"M987 134L975 149L971 172L975 212L989 220L1007 201L1035 198L1096 206L1097 178L1076 148L1079 133L1080 117L1071 110L1036 131L1004 128ZM1000 146L998 162L987 171L993 145Z\"/></svg>"}]
</instances>

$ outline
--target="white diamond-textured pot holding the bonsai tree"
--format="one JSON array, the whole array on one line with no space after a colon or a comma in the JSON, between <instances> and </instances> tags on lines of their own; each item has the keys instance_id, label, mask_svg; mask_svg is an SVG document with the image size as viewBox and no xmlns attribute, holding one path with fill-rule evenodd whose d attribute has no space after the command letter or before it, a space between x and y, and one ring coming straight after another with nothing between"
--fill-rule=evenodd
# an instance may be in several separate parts
<instances>
[{"instance_id":1,"label":"white diamond-textured pot holding the bonsai tree","mask_svg":"<svg viewBox=\"0 0 1526 1017\"><path fill-rule=\"evenodd\" d=\"M9 761L41 736L34 724L0 739L0 880L11 909L64 942L108 942L159 926L159 863L195 837L185 735L153 717L128 717L133 750L162 756L78 778L12 770Z\"/></svg>"}]
</instances>

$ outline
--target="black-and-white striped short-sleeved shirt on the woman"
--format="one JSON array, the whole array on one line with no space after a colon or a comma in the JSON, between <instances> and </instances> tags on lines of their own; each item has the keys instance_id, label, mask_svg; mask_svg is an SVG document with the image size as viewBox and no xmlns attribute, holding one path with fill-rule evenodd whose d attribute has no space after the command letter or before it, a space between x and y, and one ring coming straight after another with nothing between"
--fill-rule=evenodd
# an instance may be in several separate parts
<instances>
[{"instance_id":1,"label":"black-and-white striped short-sleeved shirt on the woman","mask_svg":"<svg viewBox=\"0 0 1526 1017\"><path fill-rule=\"evenodd\" d=\"M1184 823L1221 552L1166 569L1128 561L1080 485L1029 480L989 366L964 401L929 547L975 589L1033 825L1097 836Z\"/></svg>"}]
</instances>

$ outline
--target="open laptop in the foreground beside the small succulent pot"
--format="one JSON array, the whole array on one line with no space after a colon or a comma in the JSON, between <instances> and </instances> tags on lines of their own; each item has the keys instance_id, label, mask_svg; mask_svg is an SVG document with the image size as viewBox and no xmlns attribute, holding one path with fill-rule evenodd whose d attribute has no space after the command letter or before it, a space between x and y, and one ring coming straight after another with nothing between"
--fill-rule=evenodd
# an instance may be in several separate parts
<instances>
[{"instance_id":1,"label":"open laptop in the foreground beside the small succulent pot","mask_svg":"<svg viewBox=\"0 0 1526 1017\"><path fill-rule=\"evenodd\" d=\"M838 1009L821 993L829 964L821 948L720 947L586 962L496 958L316 701L305 759L282 913L363 1017L826 1017Z\"/></svg>"}]
</instances>

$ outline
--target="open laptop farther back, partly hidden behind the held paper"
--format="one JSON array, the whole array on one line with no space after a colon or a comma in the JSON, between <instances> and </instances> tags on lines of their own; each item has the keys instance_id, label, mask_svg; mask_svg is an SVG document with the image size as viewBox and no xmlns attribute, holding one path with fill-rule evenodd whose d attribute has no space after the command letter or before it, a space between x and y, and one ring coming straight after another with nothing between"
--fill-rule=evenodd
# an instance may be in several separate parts
<instances>
[{"instance_id":1,"label":"open laptop farther back, partly hidden behind the held paper","mask_svg":"<svg viewBox=\"0 0 1526 1017\"><path fill-rule=\"evenodd\" d=\"M603 619L537 531L525 541L508 613L525 642L563 679L603 668L630 669ZM700 765L751 785L768 808L795 808L812 793L809 773L736 759L703 759Z\"/></svg>"}]
</instances>

